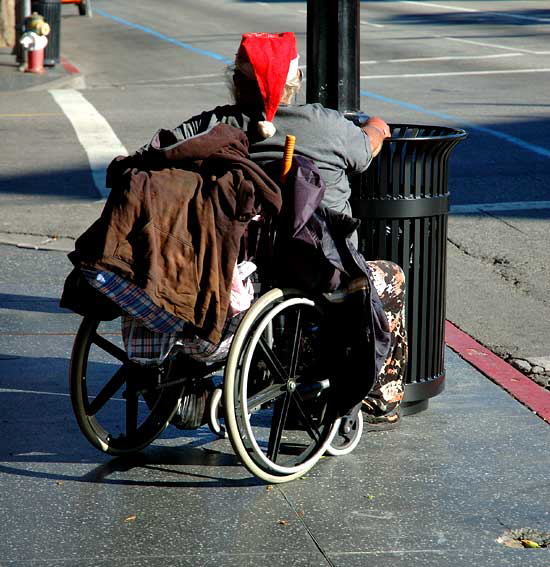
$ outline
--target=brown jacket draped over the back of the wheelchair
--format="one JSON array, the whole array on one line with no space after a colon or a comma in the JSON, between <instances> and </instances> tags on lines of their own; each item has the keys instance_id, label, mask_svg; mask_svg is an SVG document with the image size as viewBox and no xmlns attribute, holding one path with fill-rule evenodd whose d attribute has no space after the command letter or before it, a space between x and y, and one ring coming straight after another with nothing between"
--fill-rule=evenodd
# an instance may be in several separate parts
<instances>
[{"instance_id":1,"label":"brown jacket draped over the back of the wheelchair","mask_svg":"<svg viewBox=\"0 0 550 567\"><path fill-rule=\"evenodd\" d=\"M277 184L248 159L246 135L219 124L116 158L107 179L105 208L71 262L122 276L217 343L245 227L261 208L281 207Z\"/></svg>"}]
</instances>

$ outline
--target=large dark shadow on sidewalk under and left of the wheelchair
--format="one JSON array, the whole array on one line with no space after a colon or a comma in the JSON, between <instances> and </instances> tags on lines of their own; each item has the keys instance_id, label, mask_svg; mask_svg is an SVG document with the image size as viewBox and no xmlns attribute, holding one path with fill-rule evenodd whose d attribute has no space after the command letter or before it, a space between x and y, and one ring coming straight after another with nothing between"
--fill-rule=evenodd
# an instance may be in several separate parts
<instances>
[{"instance_id":1,"label":"large dark shadow on sidewalk under and left of the wheelchair","mask_svg":"<svg viewBox=\"0 0 550 567\"><path fill-rule=\"evenodd\" d=\"M180 431L169 426L162 443L140 453L109 457L87 444L71 410L65 385L68 360L54 357L0 355L2 363L3 412L0 419L0 474L51 479L140 486L252 486L252 478L227 478L224 469L243 470L228 441L218 441L207 427ZM97 366L101 366L96 363ZM105 365L109 366L109 365ZM214 445L214 443L217 444ZM84 474L75 465L98 466ZM48 464L48 470L40 465ZM192 467L191 471L185 467ZM205 469L207 467L207 469ZM214 468L214 471L212 470ZM56 468L63 472L53 472ZM81 467L79 467L81 468ZM219 469L219 475L216 470ZM142 480L110 478L120 472ZM171 479L159 480L163 473ZM232 473L233 474L233 473ZM174 475L182 480L173 480ZM155 477L155 478L152 478Z\"/></svg>"}]
</instances>

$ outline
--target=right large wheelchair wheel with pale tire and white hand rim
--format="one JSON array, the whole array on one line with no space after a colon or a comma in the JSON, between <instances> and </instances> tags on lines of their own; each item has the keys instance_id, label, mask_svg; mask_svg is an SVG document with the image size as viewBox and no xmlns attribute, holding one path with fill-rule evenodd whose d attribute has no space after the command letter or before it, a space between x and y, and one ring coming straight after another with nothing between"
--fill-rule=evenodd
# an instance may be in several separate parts
<instances>
[{"instance_id":1,"label":"right large wheelchair wheel with pale tire and white hand rim","mask_svg":"<svg viewBox=\"0 0 550 567\"><path fill-rule=\"evenodd\" d=\"M267 482L302 476L338 428L322 324L314 299L276 288L249 309L233 339L224 376L226 427L245 467Z\"/></svg>"}]
</instances>

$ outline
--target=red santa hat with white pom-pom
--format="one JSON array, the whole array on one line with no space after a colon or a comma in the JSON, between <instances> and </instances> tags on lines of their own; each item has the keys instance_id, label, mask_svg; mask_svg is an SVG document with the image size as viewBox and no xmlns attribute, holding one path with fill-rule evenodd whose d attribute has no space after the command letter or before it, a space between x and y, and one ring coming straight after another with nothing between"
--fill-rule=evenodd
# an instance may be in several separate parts
<instances>
[{"instance_id":1,"label":"red santa hat with white pom-pom","mask_svg":"<svg viewBox=\"0 0 550 567\"><path fill-rule=\"evenodd\" d=\"M298 73L296 37L292 32L245 33L236 61L237 69L258 83L266 118L258 122L258 130L264 138L270 138L275 134L272 120L285 84Z\"/></svg>"}]
</instances>

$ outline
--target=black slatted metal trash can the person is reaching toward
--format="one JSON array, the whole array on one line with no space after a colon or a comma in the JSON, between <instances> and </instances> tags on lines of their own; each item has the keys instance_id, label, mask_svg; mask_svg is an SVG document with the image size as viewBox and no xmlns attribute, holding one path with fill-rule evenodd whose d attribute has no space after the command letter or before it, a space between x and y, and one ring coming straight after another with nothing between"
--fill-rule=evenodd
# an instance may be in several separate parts
<instances>
[{"instance_id":1,"label":"black slatted metal trash can the person is reaching toward","mask_svg":"<svg viewBox=\"0 0 550 567\"><path fill-rule=\"evenodd\" d=\"M355 117L351 117L354 121ZM442 126L390 125L392 137L352 180L359 249L406 277L407 366L403 413L428 407L445 382L448 159L467 134Z\"/></svg>"}]
</instances>

